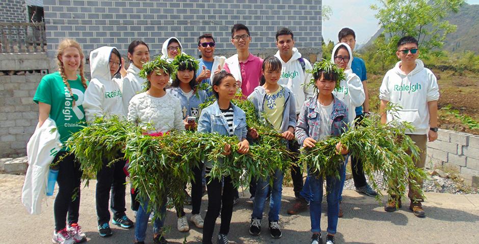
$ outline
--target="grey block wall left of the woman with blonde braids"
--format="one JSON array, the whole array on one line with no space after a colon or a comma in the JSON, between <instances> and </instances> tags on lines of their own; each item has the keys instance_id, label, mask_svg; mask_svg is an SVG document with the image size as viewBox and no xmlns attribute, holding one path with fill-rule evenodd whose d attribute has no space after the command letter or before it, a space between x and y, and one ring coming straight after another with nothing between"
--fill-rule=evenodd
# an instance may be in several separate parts
<instances>
[{"instance_id":1,"label":"grey block wall left of the woman with blonde braids","mask_svg":"<svg viewBox=\"0 0 479 244\"><path fill-rule=\"evenodd\" d=\"M0 157L26 155L26 142L38 123L38 105L33 96L49 69L46 53L1 53L0 71Z\"/></svg>"}]
</instances>

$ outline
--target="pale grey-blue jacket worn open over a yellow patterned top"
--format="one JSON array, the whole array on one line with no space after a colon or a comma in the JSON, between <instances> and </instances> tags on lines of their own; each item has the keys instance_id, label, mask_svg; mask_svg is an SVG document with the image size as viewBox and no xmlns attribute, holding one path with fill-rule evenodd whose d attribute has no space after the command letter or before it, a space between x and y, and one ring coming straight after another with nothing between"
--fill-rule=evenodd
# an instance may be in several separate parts
<instances>
[{"instance_id":1,"label":"pale grey-blue jacket worn open over a yellow patterned top","mask_svg":"<svg viewBox=\"0 0 479 244\"><path fill-rule=\"evenodd\" d=\"M281 87L280 87L281 89ZM283 122L281 123L281 133L288 130L291 126L292 128L296 127L296 102L295 96L292 95L291 91L284 87L285 89L285 102L284 102L284 110L283 110ZM264 112L264 98L266 97L266 91L262 86L258 86L254 88L253 93L248 96L248 100L250 100L254 104L254 108L256 113L259 116L259 119L264 120L262 113ZM292 106L291 106L292 104Z\"/></svg>"}]
</instances>

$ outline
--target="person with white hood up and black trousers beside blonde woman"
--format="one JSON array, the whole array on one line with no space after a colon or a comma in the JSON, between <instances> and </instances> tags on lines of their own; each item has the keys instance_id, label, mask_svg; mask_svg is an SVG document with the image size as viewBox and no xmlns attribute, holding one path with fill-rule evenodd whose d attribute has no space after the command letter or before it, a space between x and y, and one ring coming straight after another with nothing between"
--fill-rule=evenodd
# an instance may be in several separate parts
<instances>
[{"instance_id":1,"label":"person with white hood up and black trousers beside blonde woman","mask_svg":"<svg viewBox=\"0 0 479 244\"><path fill-rule=\"evenodd\" d=\"M125 118L121 80L113 78L121 69L121 55L115 47L100 47L90 53L91 80L85 92L84 108L87 121L98 116L119 116ZM123 158L119 155L118 158ZM96 213L98 233L101 237L113 234L109 222L108 202L111 200L113 224L131 228L133 222L126 217L124 160L117 160L111 166L103 160L103 167L96 178ZM110 191L112 199L110 199Z\"/></svg>"}]
</instances>

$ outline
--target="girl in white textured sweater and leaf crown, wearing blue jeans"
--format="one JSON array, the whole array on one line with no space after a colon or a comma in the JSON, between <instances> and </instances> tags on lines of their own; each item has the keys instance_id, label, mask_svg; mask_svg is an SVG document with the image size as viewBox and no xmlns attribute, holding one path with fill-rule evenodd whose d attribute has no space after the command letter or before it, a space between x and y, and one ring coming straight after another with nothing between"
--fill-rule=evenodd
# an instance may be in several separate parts
<instances>
[{"instance_id":1,"label":"girl in white textured sweater and leaf crown, wearing blue jeans","mask_svg":"<svg viewBox=\"0 0 479 244\"><path fill-rule=\"evenodd\" d=\"M128 120L141 126L150 135L162 135L172 129L184 130L182 122L181 103L178 98L167 93L165 87L170 80L173 66L161 58L156 58L143 65L140 77L148 80L147 91L136 95L128 106ZM149 199L142 199L138 209L135 240L136 243L144 243L148 217L151 209L148 210ZM163 224L166 218L167 199L163 200L161 209L152 209L159 213L159 218L153 222L154 243L168 243L163 236Z\"/></svg>"}]
</instances>

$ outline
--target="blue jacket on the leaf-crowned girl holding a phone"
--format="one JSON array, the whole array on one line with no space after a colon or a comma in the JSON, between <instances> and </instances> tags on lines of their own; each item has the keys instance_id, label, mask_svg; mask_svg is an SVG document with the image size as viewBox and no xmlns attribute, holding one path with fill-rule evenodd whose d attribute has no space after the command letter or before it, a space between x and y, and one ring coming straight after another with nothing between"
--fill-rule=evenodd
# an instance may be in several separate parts
<instances>
[{"instance_id":1,"label":"blue jacket on the leaf-crowned girl holding a phone","mask_svg":"<svg viewBox=\"0 0 479 244\"><path fill-rule=\"evenodd\" d=\"M201 109L199 105L207 100L204 90L196 90L191 98L184 96L184 92L179 86L168 88L166 91L181 101L183 119L188 116L195 116L197 118L200 116Z\"/></svg>"}]
</instances>

